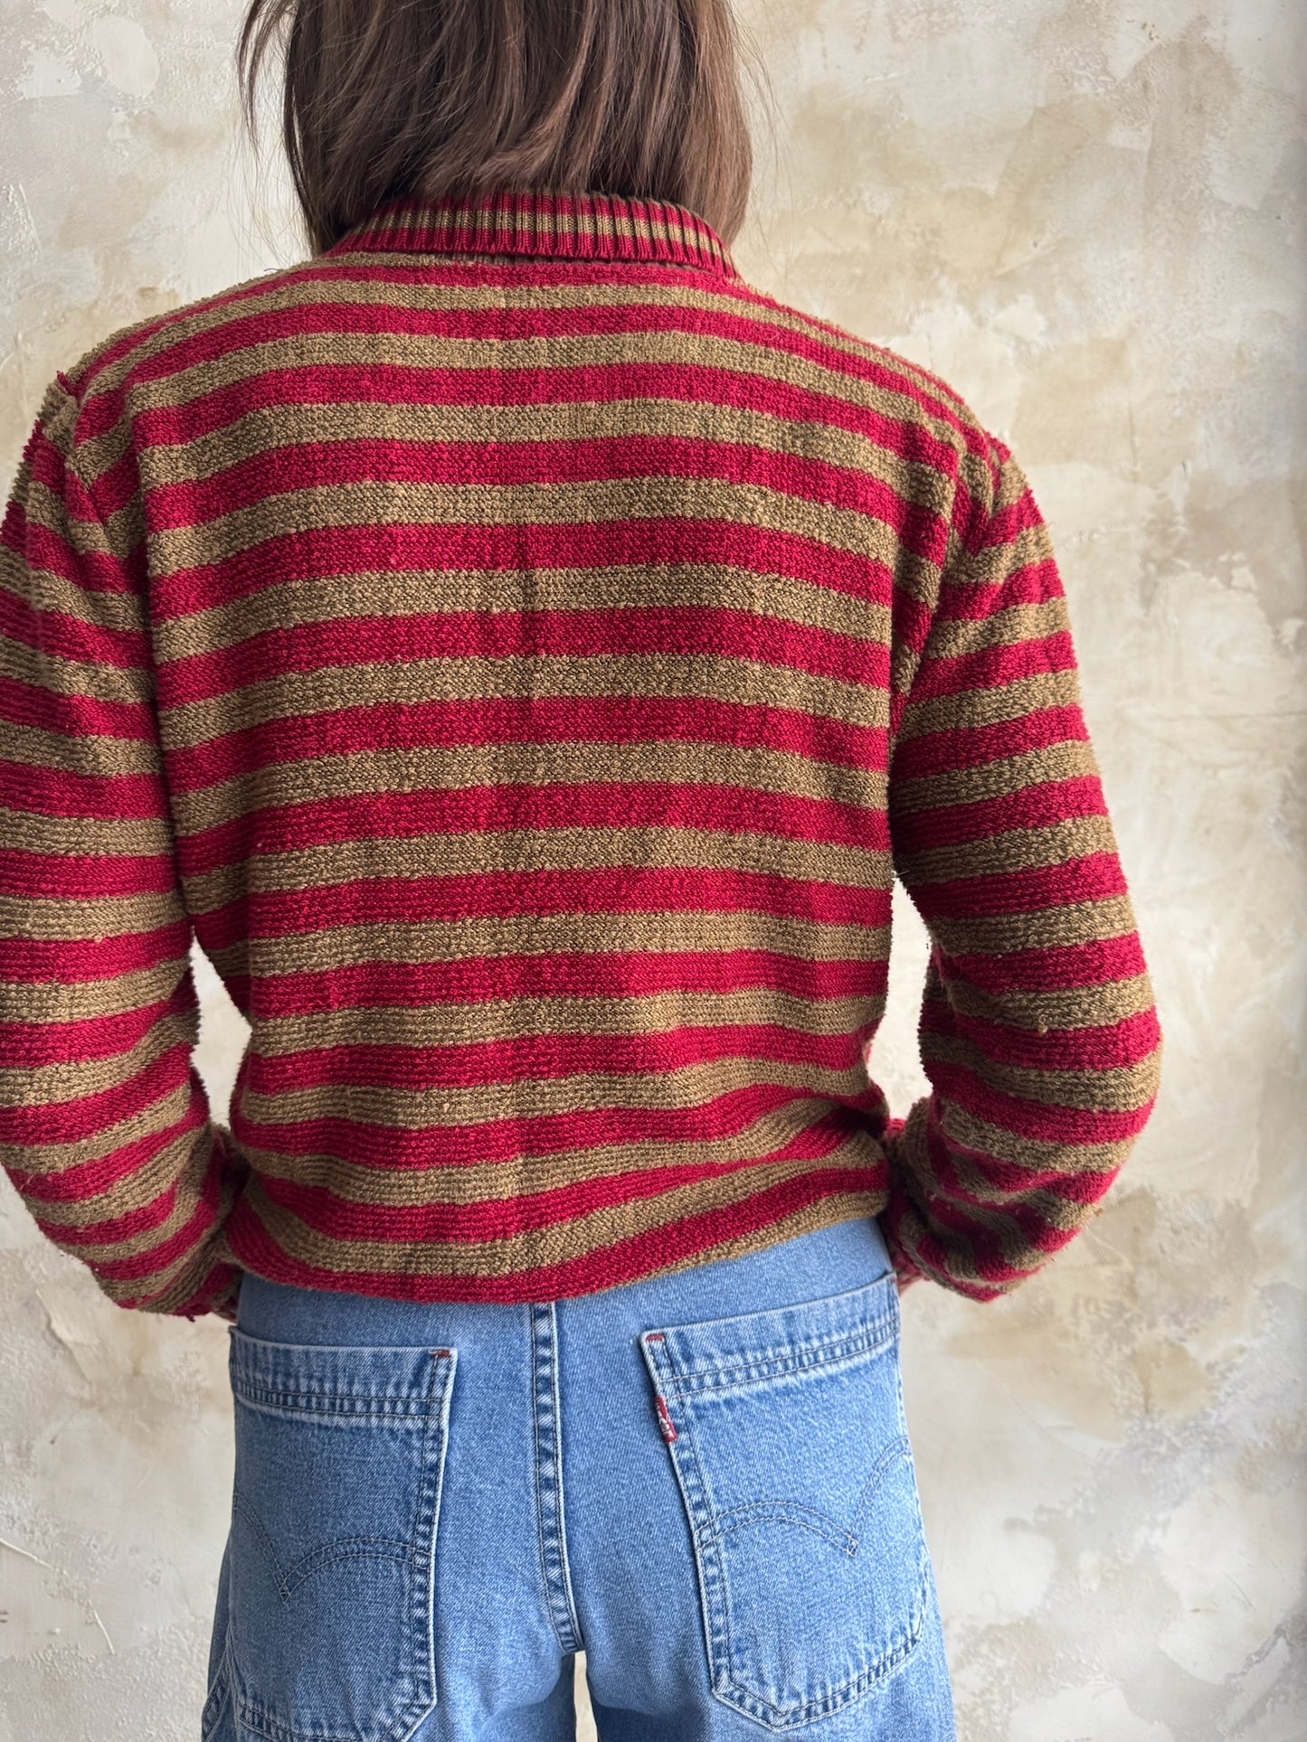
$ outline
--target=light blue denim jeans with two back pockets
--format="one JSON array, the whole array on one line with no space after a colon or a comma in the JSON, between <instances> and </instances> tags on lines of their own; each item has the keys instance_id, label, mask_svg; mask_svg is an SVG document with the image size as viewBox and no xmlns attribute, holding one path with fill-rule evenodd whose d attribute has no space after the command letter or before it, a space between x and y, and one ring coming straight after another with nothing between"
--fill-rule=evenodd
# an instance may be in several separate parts
<instances>
[{"instance_id":1,"label":"light blue denim jeans with two back pockets","mask_svg":"<svg viewBox=\"0 0 1307 1742\"><path fill-rule=\"evenodd\" d=\"M538 1305L228 1326L202 1742L953 1742L880 1226Z\"/></svg>"}]
</instances>

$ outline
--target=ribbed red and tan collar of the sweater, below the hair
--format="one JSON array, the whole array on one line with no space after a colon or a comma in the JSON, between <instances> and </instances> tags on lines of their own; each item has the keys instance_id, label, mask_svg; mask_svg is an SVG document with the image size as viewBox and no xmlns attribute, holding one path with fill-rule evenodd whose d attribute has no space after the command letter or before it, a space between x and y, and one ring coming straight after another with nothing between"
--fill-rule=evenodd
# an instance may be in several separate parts
<instances>
[{"instance_id":1,"label":"ribbed red and tan collar of the sweater, below the hair","mask_svg":"<svg viewBox=\"0 0 1307 1742\"><path fill-rule=\"evenodd\" d=\"M549 260L671 260L735 279L718 233L671 200L615 193L504 190L385 200L328 254L392 249L406 254L544 254Z\"/></svg>"}]
</instances>

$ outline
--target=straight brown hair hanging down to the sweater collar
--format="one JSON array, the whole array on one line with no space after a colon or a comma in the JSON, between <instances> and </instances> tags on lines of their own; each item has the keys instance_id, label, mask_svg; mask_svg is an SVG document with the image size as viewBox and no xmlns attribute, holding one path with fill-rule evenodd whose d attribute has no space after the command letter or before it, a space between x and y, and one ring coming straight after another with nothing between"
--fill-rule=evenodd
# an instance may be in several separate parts
<instances>
[{"instance_id":1,"label":"straight brown hair hanging down to the sweater collar","mask_svg":"<svg viewBox=\"0 0 1307 1742\"><path fill-rule=\"evenodd\" d=\"M401 193L673 200L725 244L744 223L753 146L730 0L253 0L237 75L254 143L275 42L314 253Z\"/></svg>"}]
</instances>

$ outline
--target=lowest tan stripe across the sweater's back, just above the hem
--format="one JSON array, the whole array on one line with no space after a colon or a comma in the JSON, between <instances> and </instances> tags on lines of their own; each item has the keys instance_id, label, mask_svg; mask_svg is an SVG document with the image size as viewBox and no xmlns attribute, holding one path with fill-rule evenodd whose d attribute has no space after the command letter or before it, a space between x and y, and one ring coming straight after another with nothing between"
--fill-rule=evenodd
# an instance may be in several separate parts
<instances>
[{"instance_id":1,"label":"lowest tan stripe across the sweater's back, just above the hem","mask_svg":"<svg viewBox=\"0 0 1307 1742\"><path fill-rule=\"evenodd\" d=\"M840 1165L833 1158L821 1162L781 1162L758 1165L741 1174L727 1174L721 1179L697 1179L692 1185L660 1193L657 1198L643 1198L631 1204L619 1204L612 1209L594 1211L570 1221L565 1228L528 1230L504 1240L477 1242L423 1242L423 1270L427 1273L444 1272L460 1277L493 1273L511 1277L525 1270L544 1265L558 1265L566 1259L584 1258L591 1251L617 1246L667 1226L683 1218L706 1216L713 1209L730 1204L742 1204L769 1186L784 1179L802 1178L814 1167ZM884 1202L884 1195L870 1193L864 1186L863 1169L868 1157L850 1160L850 1188L842 1193L840 1202L845 1211L856 1209L859 1214L873 1214ZM321 1265L328 1270L369 1270L369 1272L410 1272L413 1268L411 1246L396 1247L385 1240L345 1240L328 1242L305 1228L305 1225L281 1205L272 1204L260 1190L258 1181L246 1190L246 1204L274 1237L274 1240L291 1256ZM842 1219L833 1216L831 1219ZM763 1242L770 1244L770 1242ZM702 1261L702 1259L697 1259Z\"/></svg>"}]
</instances>

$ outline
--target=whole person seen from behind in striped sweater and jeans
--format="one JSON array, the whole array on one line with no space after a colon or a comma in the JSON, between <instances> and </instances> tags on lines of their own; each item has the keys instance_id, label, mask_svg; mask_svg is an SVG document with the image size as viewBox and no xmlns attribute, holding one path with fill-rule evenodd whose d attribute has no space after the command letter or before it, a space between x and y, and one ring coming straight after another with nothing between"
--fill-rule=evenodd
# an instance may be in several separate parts
<instances>
[{"instance_id":1,"label":"whole person seen from behind in striped sweater and jeans","mask_svg":"<svg viewBox=\"0 0 1307 1742\"><path fill-rule=\"evenodd\" d=\"M59 371L0 594L5 1165L228 1322L200 1735L565 1737L584 1650L613 1742L953 1737L897 1294L1161 1057L1047 530L739 275L725 0L254 0L251 118L282 33L307 258Z\"/></svg>"}]
</instances>

